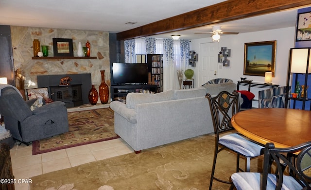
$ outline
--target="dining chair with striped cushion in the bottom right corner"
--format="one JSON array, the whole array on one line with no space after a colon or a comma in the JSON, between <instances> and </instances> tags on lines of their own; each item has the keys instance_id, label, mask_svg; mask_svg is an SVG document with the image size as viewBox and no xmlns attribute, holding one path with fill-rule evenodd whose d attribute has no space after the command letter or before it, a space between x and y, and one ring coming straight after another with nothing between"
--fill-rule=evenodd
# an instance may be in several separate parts
<instances>
[{"instance_id":1,"label":"dining chair with striped cushion in the bottom right corner","mask_svg":"<svg viewBox=\"0 0 311 190\"><path fill-rule=\"evenodd\" d=\"M263 172L234 173L231 180L237 190L311 190L311 142L289 148L267 143Z\"/></svg>"}]
</instances>

